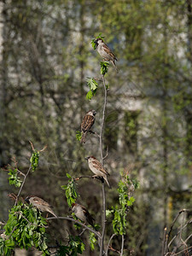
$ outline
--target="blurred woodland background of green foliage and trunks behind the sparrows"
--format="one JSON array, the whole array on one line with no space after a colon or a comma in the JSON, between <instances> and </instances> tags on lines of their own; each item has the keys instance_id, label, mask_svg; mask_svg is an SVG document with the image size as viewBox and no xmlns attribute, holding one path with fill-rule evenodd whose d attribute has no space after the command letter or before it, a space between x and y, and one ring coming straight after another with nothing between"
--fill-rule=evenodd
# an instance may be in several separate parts
<instances>
[{"instance_id":1,"label":"blurred woodland background of green foliage and trunks behind the sparrows","mask_svg":"<svg viewBox=\"0 0 192 256\"><path fill-rule=\"evenodd\" d=\"M160 255L163 228L180 209L191 209L191 2L1 1L0 164L11 164L15 157L26 172L29 141L37 149L47 145L22 195L44 198L60 216L70 214L61 190L66 173L90 175L84 157L100 157L97 137L89 135L85 145L75 137L89 109L97 112L94 131L101 124L102 86L90 102L85 98L86 79L100 79L102 61L91 39L102 32L119 60L119 73L110 66L106 76L104 143L113 186L107 191L107 207L118 201L120 171L141 183L129 213L127 255ZM14 189L7 173L0 175L0 218L6 220L13 205L7 194ZM100 183L81 179L78 184L79 202L99 223ZM66 221L50 226L52 241L65 239L67 230L73 230ZM106 241L111 232L107 225ZM83 239L88 240L86 235ZM113 247L119 249L119 244L120 237L113 238ZM97 255L88 245L86 253Z\"/></svg>"}]
</instances>

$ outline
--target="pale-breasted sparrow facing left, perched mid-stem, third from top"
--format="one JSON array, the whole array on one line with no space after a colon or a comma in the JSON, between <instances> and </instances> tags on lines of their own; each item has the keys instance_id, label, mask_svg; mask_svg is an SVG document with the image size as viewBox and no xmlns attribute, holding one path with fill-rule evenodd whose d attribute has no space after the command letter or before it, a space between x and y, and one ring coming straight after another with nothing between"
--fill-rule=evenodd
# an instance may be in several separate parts
<instances>
[{"instance_id":1,"label":"pale-breasted sparrow facing left, perched mid-stem, third from top","mask_svg":"<svg viewBox=\"0 0 192 256\"><path fill-rule=\"evenodd\" d=\"M109 173L107 170L102 166L102 164L96 160L94 156L85 157L85 160L88 161L88 165L90 167L90 171L96 174L98 177L103 177L106 183L108 183ZM111 189L110 184L108 183L108 187Z\"/></svg>"}]
</instances>

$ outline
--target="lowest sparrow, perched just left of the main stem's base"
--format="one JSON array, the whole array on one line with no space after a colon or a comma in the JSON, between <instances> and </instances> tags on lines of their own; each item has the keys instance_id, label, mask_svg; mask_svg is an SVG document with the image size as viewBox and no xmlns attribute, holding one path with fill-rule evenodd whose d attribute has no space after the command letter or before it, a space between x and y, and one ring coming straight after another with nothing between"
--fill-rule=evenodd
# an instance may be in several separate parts
<instances>
[{"instance_id":1,"label":"lowest sparrow, perched just left of the main stem's base","mask_svg":"<svg viewBox=\"0 0 192 256\"><path fill-rule=\"evenodd\" d=\"M95 219L92 218L92 216L90 215L90 212L88 212L88 210L85 207L83 207L77 203L73 203L72 211L74 212L74 214L77 218L82 220L84 223L90 224L95 229L94 224L93 224L93 221Z\"/></svg>"}]
</instances>

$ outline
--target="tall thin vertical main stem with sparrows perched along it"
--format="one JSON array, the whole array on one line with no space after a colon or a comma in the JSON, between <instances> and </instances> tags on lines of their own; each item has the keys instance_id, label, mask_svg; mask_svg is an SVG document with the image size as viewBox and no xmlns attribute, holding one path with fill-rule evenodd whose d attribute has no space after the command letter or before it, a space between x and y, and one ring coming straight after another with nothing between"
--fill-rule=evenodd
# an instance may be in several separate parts
<instances>
[{"instance_id":1,"label":"tall thin vertical main stem with sparrows perched along it","mask_svg":"<svg viewBox=\"0 0 192 256\"><path fill-rule=\"evenodd\" d=\"M101 154L101 160L102 160L102 166L103 166L104 160L103 160L103 152L102 152L102 135L103 135L103 129L104 129L105 112L106 112L107 96L108 96L108 90L106 89L104 75L102 75L102 84L104 89L104 102L103 102L103 110L102 110L102 125L101 125L101 131L100 131L100 154ZM100 256L103 255L105 227L106 227L106 195L105 195L105 183L103 182L102 183L102 238L100 241L100 253L99 253Z\"/></svg>"}]
</instances>

